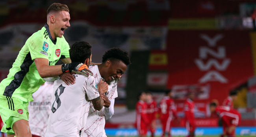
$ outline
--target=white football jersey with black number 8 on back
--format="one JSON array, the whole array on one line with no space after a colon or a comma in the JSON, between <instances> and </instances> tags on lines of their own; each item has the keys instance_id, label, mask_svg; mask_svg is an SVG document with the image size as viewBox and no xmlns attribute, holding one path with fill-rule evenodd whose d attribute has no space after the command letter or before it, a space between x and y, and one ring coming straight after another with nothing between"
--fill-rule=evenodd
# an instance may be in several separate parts
<instances>
[{"instance_id":1,"label":"white football jersey with black number 8 on back","mask_svg":"<svg viewBox=\"0 0 256 137\"><path fill-rule=\"evenodd\" d=\"M90 100L99 95L93 76L74 75L76 83L54 82L52 107L45 137L80 137L86 124Z\"/></svg>"}]
</instances>

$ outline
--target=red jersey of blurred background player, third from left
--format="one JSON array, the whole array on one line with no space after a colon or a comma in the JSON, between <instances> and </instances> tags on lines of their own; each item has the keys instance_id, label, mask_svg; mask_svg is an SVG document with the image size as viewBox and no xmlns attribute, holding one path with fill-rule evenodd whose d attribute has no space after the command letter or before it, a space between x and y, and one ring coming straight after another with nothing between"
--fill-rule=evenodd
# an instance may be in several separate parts
<instances>
[{"instance_id":1,"label":"red jersey of blurred background player, third from left","mask_svg":"<svg viewBox=\"0 0 256 137\"><path fill-rule=\"evenodd\" d=\"M160 102L161 115L160 119L168 119L168 117L178 117L174 101L171 97L165 96Z\"/></svg>"}]
</instances>

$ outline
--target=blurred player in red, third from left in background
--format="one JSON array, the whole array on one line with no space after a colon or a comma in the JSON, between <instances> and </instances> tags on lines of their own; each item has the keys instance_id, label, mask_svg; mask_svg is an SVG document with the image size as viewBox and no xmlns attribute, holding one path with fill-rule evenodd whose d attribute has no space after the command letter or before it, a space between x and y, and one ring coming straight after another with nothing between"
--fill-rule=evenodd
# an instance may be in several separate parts
<instances>
[{"instance_id":1,"label":"blurred player in red, third from left in background","mask_svg":"<svg viewBox=\"0 0 256 137\"><path fill-rule=\"evenodd\" d=\"M160 120L163 128L163 134L161 137L165 137L165 135L171 137L171 121L173 119L173 116L178 118L172 97L173 93L171 92L171 90L168 90L166 92L166 96L163 97L163 99L160 102Z\"/></svg>"}]
</instances>

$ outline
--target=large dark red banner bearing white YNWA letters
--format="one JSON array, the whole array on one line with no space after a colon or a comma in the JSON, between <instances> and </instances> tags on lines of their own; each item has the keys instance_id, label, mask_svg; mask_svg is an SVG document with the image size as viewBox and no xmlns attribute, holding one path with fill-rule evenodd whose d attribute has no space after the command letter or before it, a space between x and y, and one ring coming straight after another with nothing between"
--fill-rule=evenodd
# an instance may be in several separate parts
<instances>
[{"instance_id":1,"label":"large dark red banner bearing white YNWA letters","mask_svg":"<svg viewBox=\"0 0 256 137\"><path fill-rule=\"evenodd\" d=\"M210 84L210 99L220 103L228 92L254 75L247 31L169 31L168 88Z\"/></svg>"}]
</instances>

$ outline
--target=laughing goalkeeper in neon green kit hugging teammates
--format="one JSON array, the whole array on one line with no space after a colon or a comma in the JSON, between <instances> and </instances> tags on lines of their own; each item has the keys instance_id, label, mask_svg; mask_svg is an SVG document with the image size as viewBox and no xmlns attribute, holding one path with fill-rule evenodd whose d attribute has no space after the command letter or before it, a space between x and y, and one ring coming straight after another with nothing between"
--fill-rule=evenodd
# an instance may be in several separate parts
<instances>
[{"instance_id":1,"label":"laughing goalkeeper in neon green kit hugging teammates","mask_svg":"<svg viewBox=\"0 0 256 137\"><path fill-rule=\"evenodd\" d=\"M19 52L6 79L0 83L0 115L7 137L31 137L28 124L28 102L45 81L43 78L59 76L69 85L75 78L70 72L93 75L83 63L71 63L69 44L63 37L70 26L69 8L54 3L47 10L47 23L35 32ZM64 65L55 65L61 59Z\"/></svg>"}]
</instances>

